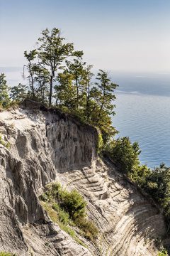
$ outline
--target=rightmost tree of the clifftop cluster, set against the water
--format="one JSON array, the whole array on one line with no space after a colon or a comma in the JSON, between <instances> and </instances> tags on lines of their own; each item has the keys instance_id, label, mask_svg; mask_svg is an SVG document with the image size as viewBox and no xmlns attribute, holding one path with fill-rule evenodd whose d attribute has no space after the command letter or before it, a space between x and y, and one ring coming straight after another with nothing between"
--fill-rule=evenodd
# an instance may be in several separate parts
<instances>
[{"instance_id":1,"label":"rightmost tree of the clifftop cluster, set against the water","mask_svg":"<svg viewBox=\"0 0 170 256\"><path fill-rule=\"evenodd\" d=\"M94 124L102 132L103 141L107 142L117 132L112 124L111 116L115 105L115 95L113 94L118 85L111 82L108 74L99 70L95 86L89 91L89 122Z\"/></svg>"}]
</instances>

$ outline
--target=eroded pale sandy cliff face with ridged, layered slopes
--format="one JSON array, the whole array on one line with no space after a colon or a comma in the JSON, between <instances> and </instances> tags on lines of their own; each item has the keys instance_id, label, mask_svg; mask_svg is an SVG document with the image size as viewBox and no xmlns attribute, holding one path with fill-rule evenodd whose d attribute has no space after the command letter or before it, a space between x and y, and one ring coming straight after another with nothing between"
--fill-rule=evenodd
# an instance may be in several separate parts
<instances>
[{"instance_id":1,"label":"eroded pale sandy cliff face with ridged, layered slopes","mask_svg":"<svg viewBox=\"0 0 170 256\"><path fill-rule=\"evenodd\" d=\"M0 113L0 251L18 255L157 255L152 241L165 233L154 203L97 159L96 129L74 117L25 102ZM52 223L38 196L50 181L77 188L99 229L87 247Z\"/></svg>"}]
</instances>

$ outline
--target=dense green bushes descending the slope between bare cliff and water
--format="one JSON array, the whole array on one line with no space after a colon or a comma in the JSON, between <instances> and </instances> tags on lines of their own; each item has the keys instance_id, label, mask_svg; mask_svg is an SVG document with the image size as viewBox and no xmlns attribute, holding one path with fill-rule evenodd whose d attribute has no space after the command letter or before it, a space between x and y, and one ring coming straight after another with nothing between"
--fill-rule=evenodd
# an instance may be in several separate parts
<instances>
[{"instance_id":1,"label":"dense green bushes descending the slope between bare cliff and water","mask_svg":"<svg viewBox=\"0 0 170 256\"><path fill-rule=\"evenodd\" d=\"M145 165L140 165L140 148L137 142L131 143L128 137L114 139L106 146L108 156L118 165L120 171L135 181L162 208L167 223L167 233L170 228L170 168L164 164L153 171Z\"/></svg>"}]
</instances>

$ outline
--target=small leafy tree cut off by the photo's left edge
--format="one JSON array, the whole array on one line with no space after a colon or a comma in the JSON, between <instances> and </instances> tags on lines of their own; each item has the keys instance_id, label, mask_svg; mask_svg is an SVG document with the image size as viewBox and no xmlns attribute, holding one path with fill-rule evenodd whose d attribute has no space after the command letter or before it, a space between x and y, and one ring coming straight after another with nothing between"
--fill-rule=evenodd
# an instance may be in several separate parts
<instances>
[{"instance_id":1,"label":"small leafy tree cut off by the photo's left edge","mask_svg":"<svg viewBox=\"0 0 170 256\"><path fill-rule=\"evenodd\" d=\"M8 107L10 103L10 98L8 96L9 88L8 85L6 85L6 76L4 73L1 73L0 75L0 105L2 107Z\"/></svg>"}]
</instances>

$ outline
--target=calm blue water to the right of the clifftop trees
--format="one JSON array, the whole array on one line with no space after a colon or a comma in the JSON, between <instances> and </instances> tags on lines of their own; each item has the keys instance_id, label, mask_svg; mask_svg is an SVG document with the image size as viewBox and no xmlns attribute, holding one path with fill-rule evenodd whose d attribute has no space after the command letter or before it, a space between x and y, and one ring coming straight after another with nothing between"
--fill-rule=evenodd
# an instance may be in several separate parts
<instances>
[{"instance_id":1,"label":"calm blue water to the right of the clifftop trees","mask_svg":"<svg viewBox=\"0 0 170 256\"><path fill-rule=\"evenodd\" d=\"M139 142L142 164L170 166L170 75L119 74L113 79L120 85L113 117L118 136Z\"/></svg>"}]
</instances>

